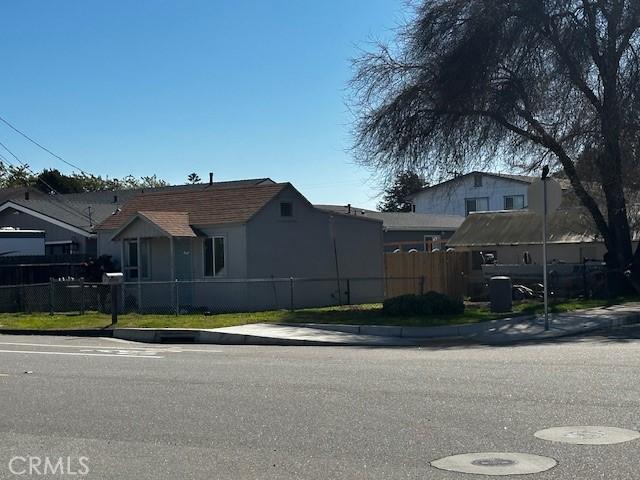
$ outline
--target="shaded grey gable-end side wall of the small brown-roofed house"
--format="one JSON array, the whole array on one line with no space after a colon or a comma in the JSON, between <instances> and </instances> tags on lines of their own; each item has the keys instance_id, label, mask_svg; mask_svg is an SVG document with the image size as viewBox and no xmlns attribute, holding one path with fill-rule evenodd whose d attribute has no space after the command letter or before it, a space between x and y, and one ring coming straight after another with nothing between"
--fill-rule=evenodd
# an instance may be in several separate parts
<instances>
[{"instance_id":1,"label":"shaded grey gable-end side wall of the small brown-roofed house","mask_svg":"<svg viewBox=\"0 0 640 480\"><path fill-rule=\"evenodd\" d=\"M280 203L291 202L294 215L280 216ZM336 257L343 279L338 292ZM355 217L332 215L307 204L293 191L285 191L247 224L247 272L250 278L296 277L322 280L297 281L296 306L330 305L346 301L347 278L382 277L382 223ZM265 303L283 298L288 304L289 288L250 285L249 296ZM351 283L352 302L380 298L382 282Z\"/></svg>"}]
</instances>

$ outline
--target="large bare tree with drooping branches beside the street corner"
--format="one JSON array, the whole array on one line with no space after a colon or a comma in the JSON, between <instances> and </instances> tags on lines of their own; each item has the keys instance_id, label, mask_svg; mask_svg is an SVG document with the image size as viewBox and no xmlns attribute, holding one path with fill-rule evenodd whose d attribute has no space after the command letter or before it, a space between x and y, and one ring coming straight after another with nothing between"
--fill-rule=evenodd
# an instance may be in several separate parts
<instances>
[{"instance_id":1,"label":"large bare tree with drooping branches beside the street corner","mask_svg":"<svg viewBox=\"0 0 640 480\"><path fill-rule=\"evenodd\" d=\"M432 176L551 163L593 217L611 271L633 262L640 278L623 188L624 169L638 165L626 152L640 145L640 1L423 0L414 8L392 45L355 60L360 161ZM576 168L587 154L602 203Z\"/></svg>"}]
</instances>

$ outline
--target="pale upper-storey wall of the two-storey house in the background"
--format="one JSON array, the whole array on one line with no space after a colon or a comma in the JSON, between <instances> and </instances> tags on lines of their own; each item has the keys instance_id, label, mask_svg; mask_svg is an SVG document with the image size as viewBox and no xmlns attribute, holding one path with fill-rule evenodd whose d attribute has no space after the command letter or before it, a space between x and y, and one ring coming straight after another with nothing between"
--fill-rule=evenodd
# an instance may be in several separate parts
<instances>
[{"instance_id":1,"label":"pale upper-storey wall of the two-storey house in the background","mask_svg":"<svg viewBox=\"0 0 640 480\"><path fill-rule=\"evenodd\" d=\"M527 206L527 184L506 179L482 176L482 186L474 186L474 177L459 178L438 187L417 194L413 203L416 213L433 213L440 215L466 215L465 199L489 198L489 210L504 210L504 197L524 195Z\"/></svg>"}]
</instances>

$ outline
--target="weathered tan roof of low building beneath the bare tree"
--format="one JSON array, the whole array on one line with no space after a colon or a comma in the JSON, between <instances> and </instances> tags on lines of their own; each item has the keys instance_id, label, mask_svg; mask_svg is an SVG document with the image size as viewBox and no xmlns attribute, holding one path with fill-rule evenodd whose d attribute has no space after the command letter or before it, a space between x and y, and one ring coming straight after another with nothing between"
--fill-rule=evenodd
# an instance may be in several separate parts
<instances>
[{"instance_id":1,"label":"weathered tan roof of low building beneath the bare tree","mask_svg":"<svg viewBox=\"0 0 640 480\"><path fill-rule=\"evenodd\" d=\"M593 221L582 208L558 210L549 216L549 243L601 241ZM539 245L542 219L529 210L471 213L448 240L448 247Z\"/></svg>"}]
</instances>

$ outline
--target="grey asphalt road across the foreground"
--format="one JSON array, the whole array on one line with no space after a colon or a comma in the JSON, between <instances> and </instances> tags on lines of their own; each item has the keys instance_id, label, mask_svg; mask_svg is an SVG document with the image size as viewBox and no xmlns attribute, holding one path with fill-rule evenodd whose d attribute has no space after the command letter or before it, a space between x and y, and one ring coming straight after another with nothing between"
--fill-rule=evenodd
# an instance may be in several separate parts
<instances>
[{"instance_id":1,"label":"grey asphalt road across the foreground","mask_svg":"<svg viewBox=\"0 0 640 480\"><path fill-rule=\"evenodd\" d=\"M145 345L0 336L0 478L468 479L447 455L553 457L525 478L637 479L640 441L556 444L564 425L640 429L640 329L537 345ZM31 372L31 373L25 373ZM24 459L24 461L22 460ZM67 465L66 462L69 462ZM37 463L37 462L36 462ZM503 477L504 478L504 477Z\"/></svg>"}]
</instances>

